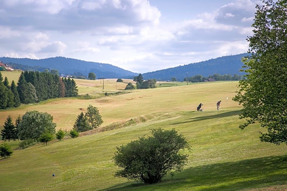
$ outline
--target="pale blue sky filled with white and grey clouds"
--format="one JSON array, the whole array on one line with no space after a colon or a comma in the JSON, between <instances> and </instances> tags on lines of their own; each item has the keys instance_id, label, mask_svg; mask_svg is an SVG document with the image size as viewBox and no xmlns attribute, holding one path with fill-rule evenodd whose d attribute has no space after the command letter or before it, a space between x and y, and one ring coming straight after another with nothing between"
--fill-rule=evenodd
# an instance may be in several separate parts
<instances>
[{"instance_id":1,"label":"pale blue sky filled with white and grey clouds","mask_svg":"<svg viewBox=\"0 0 287 191\"><path fill-rule=\"evenodd\" d=\"M135 73L248 51L257 0L0 0L0 57Z\"/></svg>"}]
</instances>

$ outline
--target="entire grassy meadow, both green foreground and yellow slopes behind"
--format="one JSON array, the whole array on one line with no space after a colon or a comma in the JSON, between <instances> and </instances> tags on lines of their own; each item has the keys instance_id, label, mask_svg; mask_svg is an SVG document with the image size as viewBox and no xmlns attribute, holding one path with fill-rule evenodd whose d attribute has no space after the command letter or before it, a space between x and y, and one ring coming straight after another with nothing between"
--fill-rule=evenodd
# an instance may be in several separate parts
<instances>
[{"instance_id":1,"label":"entire grassy meadow, both green foreground and yellow slopes behind","mask_svg":"<svg viewBox=\"0 0 287 191\"><path fill-rule=\"evenodd\" d=\"M104 79L103 90L100 80L75 81L83 96L122 92L126 86L116 79ZM259 124L238 128L244 122L238 118L241 106L232 101L238 82L179 84L162 83L172 87L96 99L57 98L1 110L0 125L7 115L14 119L38 110L53 115L57 129L69 130L89 104L99 109L104 120L100 128L78 138L14 150L12 157L0 160L1 190L287 189L287 146L260 142L258 132L264 129ZM203 112L196 111L200 102L204 103ZM189 161L183 171L152 185L114 177L118 169L112 161L116 147L149 135L153 128L175 128L190 141L192 150L185 151ZM9 144L16 148L17 142Z\"/></svg>"}]
</instances>

